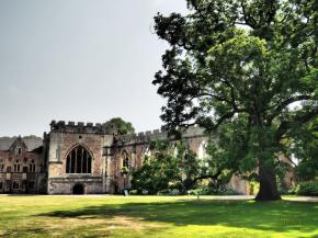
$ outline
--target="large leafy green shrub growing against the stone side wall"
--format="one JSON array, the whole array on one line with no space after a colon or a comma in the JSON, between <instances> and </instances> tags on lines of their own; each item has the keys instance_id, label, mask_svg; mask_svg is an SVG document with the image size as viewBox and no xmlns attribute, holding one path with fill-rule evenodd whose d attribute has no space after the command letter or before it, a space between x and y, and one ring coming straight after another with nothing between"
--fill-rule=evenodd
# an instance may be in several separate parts
<instances>
[{"instance_id":1,"label":"large leafy green shrub growing against the stone side wall","mask_svg":"<svg viewBox=\"0 0 318 238\"><path fill-rule=\"evenodd\" d=\"M224 184L231 177L212 157L198 159L183 141L172 144L157 140L150 147L151 156L145 156L143 167L133 174L132 184L138 191L170 194L179 190L185 194L201 180L208 179L209 183L213 180L216 184Z\"/></svg>"}]
</instances>

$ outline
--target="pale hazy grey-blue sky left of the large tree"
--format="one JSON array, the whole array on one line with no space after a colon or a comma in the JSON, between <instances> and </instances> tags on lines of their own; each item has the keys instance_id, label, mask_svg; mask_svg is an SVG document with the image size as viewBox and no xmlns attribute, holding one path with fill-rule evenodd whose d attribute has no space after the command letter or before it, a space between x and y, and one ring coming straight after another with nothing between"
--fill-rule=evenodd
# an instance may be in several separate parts
<instances>
[{"instance_id":1,"label":"pale hazy grey-blue sky left of the large tree","mask_svg":"<svg viewBox=\"0 0 318 238\"><path fill-rule=\"evenodd\" d=\"M0 0L0 136L114 116L159 128L151 81L168 45L150 29L172 11L185 0Z\"/></svg>"}]
</instances>

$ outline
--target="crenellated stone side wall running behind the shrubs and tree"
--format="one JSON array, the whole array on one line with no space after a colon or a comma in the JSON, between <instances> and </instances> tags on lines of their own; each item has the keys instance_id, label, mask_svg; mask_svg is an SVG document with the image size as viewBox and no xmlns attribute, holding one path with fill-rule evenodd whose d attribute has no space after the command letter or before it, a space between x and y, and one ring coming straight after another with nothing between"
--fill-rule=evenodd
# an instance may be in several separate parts
<instances>
[{"instance_id":1,"label":"crenellated stone side wall running behind the shrubs and tree","mask_svg":"<svg viewBox=\"0 0 318 238\"><path fill-rule=\"evenodd\" d=\"M117 143L113 146L111 192L121 192L124 188L130 188L132 173L141 168L145 155L151 155L149 145L155 140L173 141L174 139L173 137L168 137L166 132L160 132L159 129L117 137ZM198 158L207 156L205 148L209 138L204 134L203 128L188 128L182 134L182 140ZM121 173L124 152L127 152L130 165L130 173L127 178L124 178L124 174ZM231 178L228 188L236 190L240 194L249 194L248 181L237 175Z\"/></svg>"}]
</instances>

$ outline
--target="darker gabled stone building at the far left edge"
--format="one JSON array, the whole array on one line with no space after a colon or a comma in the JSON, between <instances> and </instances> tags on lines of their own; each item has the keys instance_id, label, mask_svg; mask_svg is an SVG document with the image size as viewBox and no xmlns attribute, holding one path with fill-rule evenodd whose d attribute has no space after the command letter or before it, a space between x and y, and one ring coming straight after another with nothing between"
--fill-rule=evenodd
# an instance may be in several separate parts
<instances>
[{"instance_id":1,"label":"darker gabled stone building at the far left edge","mask_svg":"<svg viewBox=\"0 0 318 238\"><path fill-rule=\"evenodd\" d=\"M0 193L45 193L47 162L43 140L0 139Z\"/></svg>"}]
</instances>

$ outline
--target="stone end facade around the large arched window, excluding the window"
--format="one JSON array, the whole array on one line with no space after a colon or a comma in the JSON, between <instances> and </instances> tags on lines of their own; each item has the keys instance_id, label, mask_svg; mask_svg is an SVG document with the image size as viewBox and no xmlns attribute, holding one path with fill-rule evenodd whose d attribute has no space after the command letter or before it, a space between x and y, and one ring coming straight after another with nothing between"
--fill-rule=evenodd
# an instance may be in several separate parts
<instances>
[{"instance_id":1,"label":"stone end facade around the large arched window, excluding the window","mask_svg":"<svg viewBox=\"0 0 318 238\"><path fill-rule=\"evenodd\" d=\"M50 133L45 135L48 145L47 193L71 194L77 184L82 186L83 193L106 193L103 148L111 146L113 138L113 135L106 135L101 124L52 122ZM67 156L79 145L91 155L90 173L67 172Z\"/></svg>"}]
</instances>

